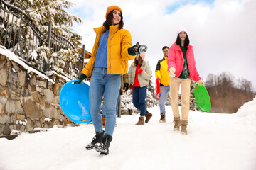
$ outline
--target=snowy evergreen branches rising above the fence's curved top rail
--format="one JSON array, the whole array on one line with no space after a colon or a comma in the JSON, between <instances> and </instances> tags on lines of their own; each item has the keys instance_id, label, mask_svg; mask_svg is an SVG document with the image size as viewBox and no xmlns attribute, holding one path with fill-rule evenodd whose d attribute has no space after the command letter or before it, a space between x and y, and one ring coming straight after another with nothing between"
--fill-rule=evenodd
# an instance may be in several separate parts
<instances>
[{"instance_id":1,"label":"snowy evergreen branches rising above the fence's curved top rail","mask_svg":"<svg viewBox=\"0 0 256 170\"><path fill-rule=\"evenodd\" d=\"M70 28L73 23L81 23L82 19L66 10L74 4L66 0L15 0L11 4L20 8L31 18L41 30L48 31L49 22L53 23L55 33L68 38L73 45L81 45L82 37Z\"/></svg>"}]
</instances>

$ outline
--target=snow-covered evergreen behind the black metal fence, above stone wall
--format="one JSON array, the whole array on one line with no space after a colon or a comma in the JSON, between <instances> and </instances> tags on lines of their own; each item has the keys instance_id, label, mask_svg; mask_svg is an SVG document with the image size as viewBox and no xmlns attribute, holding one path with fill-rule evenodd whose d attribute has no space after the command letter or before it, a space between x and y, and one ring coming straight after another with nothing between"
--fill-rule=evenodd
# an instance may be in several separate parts
<instances>
[{"instance_id":1,"label":"snow-covered evergreen behind the black metal fence, above stone wall","mask_svg":"<svg viewBox=\"0 0 256 170\"><path fill-rule=\"evenodd\" d=\"M1 44L38 69L42 69L43 65L48 62L48 69L73 73L79 58L78 51L74 47L81 45L80 40L82 40L82 37L71 29L74 22L82 22L81 18L67 12L73 3L66 0L6 2L14 6L14 8L9 8L9 11L15 13L16 16L0 10L0 29L3 31ZM18 16L25 18L27 22ZM53 35L50 49L46 44L49 23L52 23ZM45 40L39 38L38 35Z\"/></svg>"}]
</instances>

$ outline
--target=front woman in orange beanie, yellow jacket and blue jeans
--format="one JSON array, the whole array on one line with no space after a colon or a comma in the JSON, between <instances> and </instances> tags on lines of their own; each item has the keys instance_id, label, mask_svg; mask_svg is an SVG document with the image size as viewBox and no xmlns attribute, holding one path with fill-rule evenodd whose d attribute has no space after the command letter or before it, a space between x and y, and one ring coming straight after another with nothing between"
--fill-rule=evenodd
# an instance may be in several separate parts
<instances>
[{"instance_id":1,"label":"front woman in orange beanie, yellow jacket and blue jeans","mask_svg":"<svg viewBox=\"0 0 256 170\"><path fill-rule=\"evenodd\" d=\"M119 6L109 6L103 26L95 28L96 40L92 57L82 69L79 81L91 76L89 103L92 123L96 135L86 149L93 149L100 154L109 154L110 142L116 123L116 104L121 86L121 74L127 73L128 60L133 60L139 53L139 43L132 46L132 36L123 29L122 10ZM106 125L102 128L100 106L105 97Z\"/></svg>"}]
</instances>

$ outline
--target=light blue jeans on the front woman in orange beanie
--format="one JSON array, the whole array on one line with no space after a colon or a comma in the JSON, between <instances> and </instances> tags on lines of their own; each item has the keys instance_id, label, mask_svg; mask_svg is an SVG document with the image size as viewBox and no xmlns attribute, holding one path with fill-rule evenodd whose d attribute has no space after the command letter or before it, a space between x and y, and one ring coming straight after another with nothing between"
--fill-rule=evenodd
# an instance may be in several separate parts
<instances>
[{"instance_id":1,"label":"light blue jeans on the front woman in orange beanie","mask_svg":"<svg viewBox=\"0 0 256 170\"><path fill-rule=\"evenodd\" d=\"M95 132L103 132L100 106L105 95L106 125L105 134L112 136L116 123L117 98L121 86L121 74L107 74L107 69L95 67L92 72L89 90L90 113Z\"/></svg>"}]
</instances>

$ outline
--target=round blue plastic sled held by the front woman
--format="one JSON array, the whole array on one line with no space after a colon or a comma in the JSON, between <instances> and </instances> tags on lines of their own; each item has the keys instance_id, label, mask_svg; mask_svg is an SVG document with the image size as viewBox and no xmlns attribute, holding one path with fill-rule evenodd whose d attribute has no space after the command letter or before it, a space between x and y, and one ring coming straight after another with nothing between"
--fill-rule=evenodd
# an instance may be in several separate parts
<instances>
[{"instance_id":1,"label":"round blue plastic sled held by the front woman","mask_svg":"<svg viewBox=\"0 0 256 170\"><path fill-rule=\"evenodd\" d=\"M76 80L68 81L60 90L60 107L74 123L90 123L92 121L89 108L89 86Z\"/></svg>"}]
</instances>

